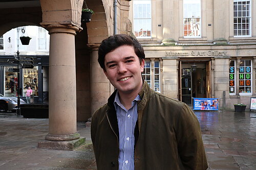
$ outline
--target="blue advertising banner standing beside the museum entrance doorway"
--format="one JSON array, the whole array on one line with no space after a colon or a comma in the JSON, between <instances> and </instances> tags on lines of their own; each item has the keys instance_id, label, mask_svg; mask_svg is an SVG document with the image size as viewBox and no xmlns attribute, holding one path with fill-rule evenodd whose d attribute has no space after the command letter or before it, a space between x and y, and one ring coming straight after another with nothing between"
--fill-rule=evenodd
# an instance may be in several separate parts
<instances>
[{"instance_id":1,"label":"blue advertising banner standing beside the museum entrance doorway","mask_svg":"<svg viewBox=\"0 0 256 170\"><path fill-rule=\"evenodd\" d=\"M219 99L193 98L193 110L219 110Z\"/></svg>"}]
</instances>

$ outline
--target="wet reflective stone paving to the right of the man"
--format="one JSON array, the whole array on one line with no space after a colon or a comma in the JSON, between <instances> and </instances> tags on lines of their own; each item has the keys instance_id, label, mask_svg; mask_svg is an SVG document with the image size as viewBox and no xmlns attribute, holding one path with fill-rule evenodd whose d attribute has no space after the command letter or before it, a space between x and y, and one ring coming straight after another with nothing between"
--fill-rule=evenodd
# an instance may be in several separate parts
<instances>
[{"instance_id":1,"label":"wet reflective stone paving to the right of the man","mask_svg":"<svg viewBox=\"0 0 256 170\"><path fill-rule=\"evenodd\" d=\"M256 113L195 111L208 169L256 169Z\"/></svg>"}]
</instances>

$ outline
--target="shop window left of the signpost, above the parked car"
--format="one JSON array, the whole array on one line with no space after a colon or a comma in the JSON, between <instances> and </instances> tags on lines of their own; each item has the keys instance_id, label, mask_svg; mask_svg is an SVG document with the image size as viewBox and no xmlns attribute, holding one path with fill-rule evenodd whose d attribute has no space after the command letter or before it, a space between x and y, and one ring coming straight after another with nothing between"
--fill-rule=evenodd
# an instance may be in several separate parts
<instances>
[{"instance_id":1,"label":"shop window left of the signpost, above the parked car","mask_svg":"<svg viewBox=\"0 0 256 170\"><path fill-rule=\"evenodd\" d=\"M17 96L18 77L17 72L9 71L14 66L5 66L5 96Z\"/></svg>"}]
</instances>

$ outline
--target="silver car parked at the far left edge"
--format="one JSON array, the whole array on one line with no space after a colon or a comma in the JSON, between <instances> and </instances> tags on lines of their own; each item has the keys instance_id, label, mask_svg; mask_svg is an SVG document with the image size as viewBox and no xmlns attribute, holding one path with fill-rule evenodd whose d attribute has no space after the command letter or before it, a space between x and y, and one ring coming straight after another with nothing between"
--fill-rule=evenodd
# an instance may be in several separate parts
<instances>
[{"instance_id":1,"label":"silver car parked at the far left edge","mask_svg":"<svg viewBox=\"0 0 256 170\"><path fill-rule=\"evenodd\" d=\"M26 104L26 102L20 99L20 104ZM0 94L0 112L15 111L17 108L17 97L8 97Z\"/></svg>"}]
</instances>

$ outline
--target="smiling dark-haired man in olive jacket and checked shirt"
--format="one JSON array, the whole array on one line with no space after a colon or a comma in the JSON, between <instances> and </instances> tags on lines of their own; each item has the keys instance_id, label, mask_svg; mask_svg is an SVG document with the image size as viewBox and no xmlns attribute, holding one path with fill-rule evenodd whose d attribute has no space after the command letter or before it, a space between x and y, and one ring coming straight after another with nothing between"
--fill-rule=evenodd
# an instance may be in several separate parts
<instances>
[{"instance_id":1,"label":"smiling dark-haired man in olive jacket and checked shirt","mask_svg":"<svg viewBox=\"0 0 256 170\"><path fill-rule=\"evenodd\" d=\"M116 88L95 111L91 136L98 170L207 168L195 114L142 79L144 50L129 35L103 40L98 62Z\"/></svg>"}]
</instances>

